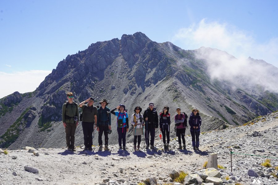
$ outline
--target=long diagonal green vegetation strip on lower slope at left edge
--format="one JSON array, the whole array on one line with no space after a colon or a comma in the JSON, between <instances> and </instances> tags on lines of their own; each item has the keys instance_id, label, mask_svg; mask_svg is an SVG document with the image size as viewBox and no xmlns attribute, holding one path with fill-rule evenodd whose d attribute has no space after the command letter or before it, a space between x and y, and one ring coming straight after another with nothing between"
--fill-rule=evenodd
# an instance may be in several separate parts
<instances>
[{"instance_id":1,"label":"long diagonal green vegetation strip on lower slope at left edge","mask_svg":"<svg viewBox=\"0 0 278 185\"><path fill-rule=\"evenodd\" d=\"M27 121L23 121L23 116L28 112L30 107L24 110L24 112L17 118L17 120L8 128L0 138L0 144L3 144L3 148L8 148L19 137L20 126L25 129Z\"/></svg>"}]
</instances>

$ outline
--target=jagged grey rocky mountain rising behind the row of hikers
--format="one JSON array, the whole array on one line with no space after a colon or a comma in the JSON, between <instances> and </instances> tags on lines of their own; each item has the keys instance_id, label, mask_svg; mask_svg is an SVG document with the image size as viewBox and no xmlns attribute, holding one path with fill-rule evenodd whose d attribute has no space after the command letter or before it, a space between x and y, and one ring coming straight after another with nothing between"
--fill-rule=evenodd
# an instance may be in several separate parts
<instances>
[{"instance_id":1,"label":"jagged grey rocky mountain rising behind the row of hikers","mask_svg":"<svg viewBox=\"0 0 278 185\"><path fill-rule=\"evenodd\" d=\"M93 43L84 51L68 55L34 92L14 92L0 100L0 147L64 146L61 107L69 91L78 103L94 97L94 105L102 98L109 101L110 108L124 104L129 115L137 105L146 109L150 101L158 112L167 105L172 123L176 107L188 115L197 107L203 120L202 131L242 125L278 109L278 95L258 85L211 80L208 61L196 57L200 50L213 51L204 47L183 50L170 42L156 43L137 32L123 35L120 40ZM277 68L272 70L278 74ZM112 130L109 143L115 144L113 115ZM158 135L159 130L156 132ZM174 124L171 136L175 136ZM127 141L132 140L129 132ZM82 127L78 126L76 144L82 143ZM97 137L93 143L98 145Z\"/></svg>"}]
</instances>

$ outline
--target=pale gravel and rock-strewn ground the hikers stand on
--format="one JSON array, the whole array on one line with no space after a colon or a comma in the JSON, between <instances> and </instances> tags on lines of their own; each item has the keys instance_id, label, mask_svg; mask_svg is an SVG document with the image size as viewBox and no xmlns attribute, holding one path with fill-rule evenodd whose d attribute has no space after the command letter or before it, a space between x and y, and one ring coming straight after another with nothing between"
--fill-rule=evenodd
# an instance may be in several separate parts
<instances>
[{"instance_id":1,"label":"pale gravel and rock-strewn ground the hikers stand on","mask_svg":"<svg viewBox=\"0 0 278 185\"><path fill-rule=\"evenodd\" d=\"M183 184L278 184L278 112L258 117L242 126L213 130L200 135L200 150L194 151L191 137L186 136L187 150L177 150L177 138L171 138L170 151L163 151L162 140L157 150L128 151L109 145L110 151L75 152L65 148L25 147L0 155L0 184L180 184L172 178L186 172ZM230 150L232 155L232 172ZM1 150L0 150L1 151ZM211 153L217 153L223 169L204 169ZM270 166L262 163L270 159ZM218 170L218 171L217 171ZM181 183L182 184L182 183ZM209 185L212 185L209 184Z\"/></svg>"}]
</instances>

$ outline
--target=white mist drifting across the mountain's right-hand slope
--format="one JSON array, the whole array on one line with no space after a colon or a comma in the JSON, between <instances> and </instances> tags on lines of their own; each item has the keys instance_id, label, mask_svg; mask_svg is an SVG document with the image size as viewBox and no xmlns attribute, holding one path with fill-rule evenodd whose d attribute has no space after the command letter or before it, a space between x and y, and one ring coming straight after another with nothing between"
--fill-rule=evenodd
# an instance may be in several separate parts
<instances>
[{"instance_id":1,"label":"white mist drifting across the mountain's right-hand slope","mask_svg":"<svg viewBox=\"0 0 278 185\"><path fill-rule=\"evenodd\" d=\"M202 47L196 56L208 62L211 79L229 80L241 87L253 88L257 84L263 90L278 93L278 69L263 61L236 59L226 52Z\"/></svg>"}]
</instances>

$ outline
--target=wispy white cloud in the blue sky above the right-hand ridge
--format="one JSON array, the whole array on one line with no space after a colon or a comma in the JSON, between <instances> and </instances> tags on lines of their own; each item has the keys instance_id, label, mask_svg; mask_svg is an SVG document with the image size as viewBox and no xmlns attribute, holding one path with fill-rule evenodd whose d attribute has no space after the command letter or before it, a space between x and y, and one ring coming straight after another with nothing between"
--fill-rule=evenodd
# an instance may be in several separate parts
<instances>
[{"instance_id":1,"label":"wispy white cloud in the blue sky above the right-hand ridge","mask_svg":"<svg viewBox=\"0 0 278 185\"><path fill-rule=\"evenodd\" d=\"M179 29L172 42L183 49L197 49L204 46L227 51L237 58L251 56L278 67L278 38L258 43L247 31L227 23L208 23L203 19L198 24Z\"/></svg>"}]
</instances>

